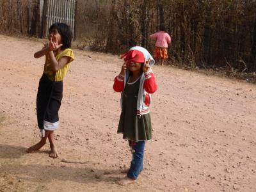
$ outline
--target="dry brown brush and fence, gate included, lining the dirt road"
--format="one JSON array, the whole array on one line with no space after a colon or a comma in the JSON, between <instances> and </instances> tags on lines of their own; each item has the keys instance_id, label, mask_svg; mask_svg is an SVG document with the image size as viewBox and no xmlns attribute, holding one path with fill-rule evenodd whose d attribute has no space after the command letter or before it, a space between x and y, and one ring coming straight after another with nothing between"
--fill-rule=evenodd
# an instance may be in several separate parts
<instances>
[{"instance_id":1,"label":"dry brown brush and fence, gate included, lining the dirt road","mask_svg":"<svg viewBox=\"0 0 256 192\"><path fill-rule=\"evenodd\" d=\"M169 63L255 74L255 10L256 0L0 0L0 32L45 37L66 22L77 47L121 54L133 45L152 52L148 36L163 23Z\"/></svg>"}]
</instances>

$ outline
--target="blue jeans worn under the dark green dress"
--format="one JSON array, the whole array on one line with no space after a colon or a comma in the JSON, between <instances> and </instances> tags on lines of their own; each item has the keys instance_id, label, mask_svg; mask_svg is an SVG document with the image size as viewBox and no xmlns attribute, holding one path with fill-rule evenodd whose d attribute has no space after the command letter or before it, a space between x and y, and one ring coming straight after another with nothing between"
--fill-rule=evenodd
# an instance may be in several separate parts
<instances>
[{"instance_id":1,"label":"blue jeans worn under the dark green dress","mask_svg":"<svg viewBox=\"0 0 256 192\"><path fill-rule=\"evenodd\" d=\"M132 150L132 161L127 177L137 179L138 175L143 170L145 141L129 141L129 146Z\"/></svg>"}]
</instances>

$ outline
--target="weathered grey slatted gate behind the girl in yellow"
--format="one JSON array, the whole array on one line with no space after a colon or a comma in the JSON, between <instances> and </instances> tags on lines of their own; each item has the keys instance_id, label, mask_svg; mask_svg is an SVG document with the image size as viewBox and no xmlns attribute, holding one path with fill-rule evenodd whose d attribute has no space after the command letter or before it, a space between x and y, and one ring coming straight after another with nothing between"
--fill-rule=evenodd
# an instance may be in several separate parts
<instances>
[{"instance_id":1,"label":"weathered grey slatted gate behind the girl in yellow","mask_svg":"<svg viewBox=\"0 0 256 192\"><path fill-rule=\"evenodd\" d=\"M63 22L70 26L73 35L75 35L75 13L76 0L44 0L40 1L40 8L43 10L43 30L42 37L47 37L49 28L54 22Z\"/></svg>"}]
</instances>

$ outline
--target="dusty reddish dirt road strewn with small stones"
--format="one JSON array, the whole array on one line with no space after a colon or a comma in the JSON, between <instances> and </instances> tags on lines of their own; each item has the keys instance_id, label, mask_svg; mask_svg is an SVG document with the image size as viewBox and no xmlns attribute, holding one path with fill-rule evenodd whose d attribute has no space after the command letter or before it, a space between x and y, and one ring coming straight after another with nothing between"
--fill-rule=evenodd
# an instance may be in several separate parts
<instances>
[{"instance_id":1,"label":"dusty reddish dirt road strewn with small stones","mask_svg":"<svg viewBox=\"0 0 256 192\"><path fill-rule=\"evenodd\" d=\"M0 191L256 191L256 86L154 66L153 139L145 170L118 186L129 166L116 134L120 94L112 89L118 57L75 51L64 81L58 159L26 148L39 140L35 100L42 42L0 35ZM65 159L70 163L61 162Z\"/></svg>"}]
</instances>

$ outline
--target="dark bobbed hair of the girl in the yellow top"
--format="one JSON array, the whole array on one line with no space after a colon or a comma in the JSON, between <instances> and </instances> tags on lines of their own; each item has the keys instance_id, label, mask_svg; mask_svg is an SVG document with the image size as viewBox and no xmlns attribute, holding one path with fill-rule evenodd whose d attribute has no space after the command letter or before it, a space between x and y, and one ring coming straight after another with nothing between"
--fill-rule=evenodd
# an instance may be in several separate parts
<instances>
[{"instance_id":1,"label":"dark bobbed hair of the girl in the yellow top","mask_svg":"<svg viewBox=\"0 0 256 192\"><path fill-rule=\"evenodd\" d=\"M72 31L70 29L70 27L62 22L56 22L54 24L51 25L49 32L52 29L57 29L58 33L60 33L61 35L61 42L62 42L62 46L61 49L67 49L71 47L71 42L72 42Z\"/></svg>"}]
</instances>

